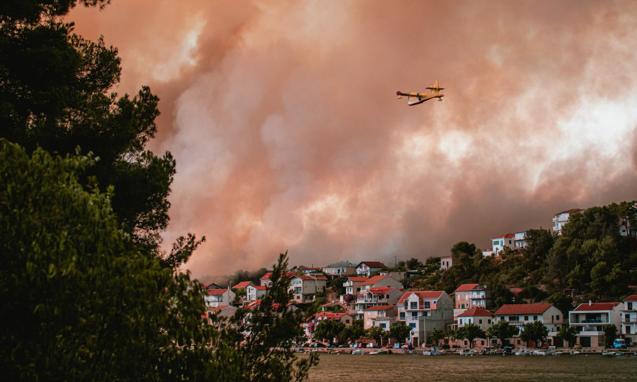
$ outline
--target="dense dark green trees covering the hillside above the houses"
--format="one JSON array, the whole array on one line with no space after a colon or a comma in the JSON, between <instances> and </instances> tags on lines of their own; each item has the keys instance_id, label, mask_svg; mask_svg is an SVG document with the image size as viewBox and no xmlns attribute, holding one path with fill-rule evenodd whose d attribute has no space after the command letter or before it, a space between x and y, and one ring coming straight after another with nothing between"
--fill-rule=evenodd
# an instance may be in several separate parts
<instances>
[{"instance_id":1,"label":"dense dark green trees covering the hillside above the houses","mask_svg":"<svg viewBox=\"0 0 637 382\"><path fill-rule=\"evenodd\" d=\"M440 270L440 258L425 264L412 258L392 270L419 269L422 274L403 280L415 290L445 290L466 283L487 285L494 308L513 301L512 287L524 288L526 302L620 301L637 285L637 236L620 235L620 225L637 225L633 202L592 207L571 215L562 234L527 230L527 246L505 247L499 256L483 257L475 244L461 241L451 250L457 262ZM632 270L632 271L631 271Z\"/></svg>"}]
</instances>

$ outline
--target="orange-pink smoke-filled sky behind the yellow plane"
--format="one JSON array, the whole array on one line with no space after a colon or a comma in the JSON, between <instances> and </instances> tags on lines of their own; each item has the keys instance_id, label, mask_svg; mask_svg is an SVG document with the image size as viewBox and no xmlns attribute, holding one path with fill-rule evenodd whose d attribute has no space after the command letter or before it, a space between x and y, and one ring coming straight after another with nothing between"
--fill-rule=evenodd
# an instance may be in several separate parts
<instances>
[{"instance_id":1,"label":"orange-pink smoke-filled sky behind the yellow plane","mask_svg":"<svg viewBox=\"0 0 637 382\"><path fill-rule=\"evenodd\" d=\"M113 0L66 19L161 98L194 276L386 264L637 199L637 1ZM408 106L396 90L443 102ZM117 192L117 190L116 190Z\"/></svg>"}]
</instances>

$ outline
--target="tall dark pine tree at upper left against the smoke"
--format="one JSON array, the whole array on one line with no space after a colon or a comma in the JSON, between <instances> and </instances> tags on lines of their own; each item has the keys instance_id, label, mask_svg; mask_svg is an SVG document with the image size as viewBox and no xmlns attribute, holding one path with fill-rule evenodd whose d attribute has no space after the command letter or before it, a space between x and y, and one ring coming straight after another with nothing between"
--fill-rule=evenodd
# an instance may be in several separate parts
<instances>
[{"instance_id":1,"label":"tall dark pine tree at upper left against the smoke","mask_svg":"<svg viewBox=\"0 0 637 382\"><path fill-rule=\"evenodd\" d=\"M145 150L156 132L157 96L148 87L119 97L117 49L73 33L59 17L76 4L106 0L5 0L0 6L0 137L50 153L92 152L99 158L83 174L101 188L115 187L111 208L138 244L178 267L201 243L181 237L159 250L168 225L169 186L175 160ZM85 184L86 180L80 180Z\"/></svg>"}]
</instances>

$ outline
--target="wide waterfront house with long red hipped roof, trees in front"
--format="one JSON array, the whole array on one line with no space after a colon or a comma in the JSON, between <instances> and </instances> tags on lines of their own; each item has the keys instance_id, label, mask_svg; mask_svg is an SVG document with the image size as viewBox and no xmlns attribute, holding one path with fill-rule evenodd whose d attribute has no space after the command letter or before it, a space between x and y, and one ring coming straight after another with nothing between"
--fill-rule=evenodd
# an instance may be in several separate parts
<instances>
[{"instance_id":1,"label":"wide waterfront house with long red hipped roof, trees in front","mask_svg":"<svg viewBox=\"0 0 637 382\"><path fill-rule=\"evenodd\" d=\"M566 316L553 304L505 304L497 309L494 322L505 320L510 325L517 327L520 332L524 324L539 321L548 329L547 342L555 346L561 346L561 339L557 338L557 332L567 322ZM520 345L519 338L515 339ZM535 344L538 345L538 344Z\"/></svg>"}]
</instances>

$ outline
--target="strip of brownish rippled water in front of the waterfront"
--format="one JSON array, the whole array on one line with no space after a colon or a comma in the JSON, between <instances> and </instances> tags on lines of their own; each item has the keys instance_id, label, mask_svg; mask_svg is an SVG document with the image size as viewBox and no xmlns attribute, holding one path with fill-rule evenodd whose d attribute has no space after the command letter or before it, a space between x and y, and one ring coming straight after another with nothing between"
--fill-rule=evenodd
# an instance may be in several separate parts
<instances>
[{"instance_id":1,"label":"strip of brownish rippled water in front of the waterfront","mask_svg":"<svg viewBox=\"0 0 637 382\"><path fill-rule=\"evenodd\" d=\"M299 357L307 357L299 354ZM637 381L637 356L321 354L307 381Z\"/></svg>"}]
</instances>

